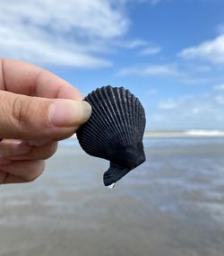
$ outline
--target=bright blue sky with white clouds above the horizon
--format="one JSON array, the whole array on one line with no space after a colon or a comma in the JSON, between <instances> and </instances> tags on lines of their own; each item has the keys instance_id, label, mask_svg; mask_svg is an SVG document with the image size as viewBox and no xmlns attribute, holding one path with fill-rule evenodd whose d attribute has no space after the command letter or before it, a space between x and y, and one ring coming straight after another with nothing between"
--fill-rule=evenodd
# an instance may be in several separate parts
<instances>
[{"instance_id":1,"label":"bright blue sky with white clouds above the horizon","mask_svg":"<svg viewBox=\"0 0 224 256\"><path fill-rule=\"evenodd\" d=\"M223 0L0 0L0 56L83 95L137 96L147 129L224 128Z\"/></svg>"}]
</instances>

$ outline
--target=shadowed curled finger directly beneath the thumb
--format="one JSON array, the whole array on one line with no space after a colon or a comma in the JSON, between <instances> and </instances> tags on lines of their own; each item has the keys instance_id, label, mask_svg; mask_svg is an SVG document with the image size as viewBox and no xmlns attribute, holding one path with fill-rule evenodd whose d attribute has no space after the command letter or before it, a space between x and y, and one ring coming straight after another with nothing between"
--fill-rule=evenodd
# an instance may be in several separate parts
<instances>
[{"instance_id":1,"label":"shadowed curled finger directly beneath the thumb","mask_svg":"<svg viewBox=\"0 0 224 256\"><path fill-rule=\"evenodd\" d=\"M28 142L4 139L0 143L0 154L8 160L40 160L47 159L56 153L57 142L42 146L30 146Z\"/></svg>"}]
</instances>

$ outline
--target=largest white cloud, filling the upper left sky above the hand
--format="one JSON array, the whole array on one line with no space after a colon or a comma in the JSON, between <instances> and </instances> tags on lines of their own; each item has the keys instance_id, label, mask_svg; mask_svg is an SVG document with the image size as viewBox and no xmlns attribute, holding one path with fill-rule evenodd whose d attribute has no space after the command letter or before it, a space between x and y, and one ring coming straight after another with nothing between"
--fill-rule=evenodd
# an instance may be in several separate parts
<instances>
[{"instance_id":1,"label":"largest white cloud, filling the upper left sky above the hand","mask_svg":"<svg viewBox=\"0 0 224 256\"><path fill-rule=\"evenodd\" d=\"M111 41L128 28L123 1L0 1L0 55L39 64L110 66Z\"/></svg>"}]
</instances>

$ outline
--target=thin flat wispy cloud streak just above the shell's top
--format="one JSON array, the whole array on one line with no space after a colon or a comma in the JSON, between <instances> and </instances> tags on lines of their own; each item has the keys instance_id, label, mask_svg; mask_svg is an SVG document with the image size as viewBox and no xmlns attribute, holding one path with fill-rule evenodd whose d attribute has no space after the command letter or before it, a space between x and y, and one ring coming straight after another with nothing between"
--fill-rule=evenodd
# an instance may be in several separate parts
<instances>
[{"instance_id":1,"label":"thin flat wispy cloud streak just above the shell's top","mask_svg":"<svg viewBox=\"0 0 224 256\"><path fill-rule=\"evenodd\" d=\"M171 65L151 65L151 66L129 66L121 69L116 75L179 75L176 66Z\"/></svg>"}]
</instances>

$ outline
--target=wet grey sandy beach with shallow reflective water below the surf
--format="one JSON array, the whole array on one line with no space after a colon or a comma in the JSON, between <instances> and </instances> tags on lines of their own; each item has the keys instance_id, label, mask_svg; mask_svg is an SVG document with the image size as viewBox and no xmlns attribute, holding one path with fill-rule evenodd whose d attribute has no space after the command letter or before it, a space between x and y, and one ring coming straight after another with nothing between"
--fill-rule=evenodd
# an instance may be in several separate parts
<instances>
[{"instance_id":1,"label":"wet grey sandy beach with shallow reflective water below the surf","mask_svg":"<svg viewBox=\"0 0 224 256\"><path fill-rule=\"evenodd\" d=\"M108 161L60 143L29 184L0 186L0 256L221 256L224 137L145 137L146 162L105 188Z\"/></svg>"}]
</instances>

